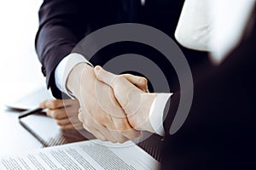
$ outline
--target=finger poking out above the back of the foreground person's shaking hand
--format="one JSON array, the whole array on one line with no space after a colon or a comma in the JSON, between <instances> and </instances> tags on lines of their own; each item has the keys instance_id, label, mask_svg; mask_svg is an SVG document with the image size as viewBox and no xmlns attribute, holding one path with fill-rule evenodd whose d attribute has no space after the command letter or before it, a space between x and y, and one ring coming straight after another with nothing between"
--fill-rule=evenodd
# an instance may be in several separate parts
<instances>
[{"instance_id":1,"label":"finger poking out above the back of the foreground person's shaking hand","mask_svg":"<svg viewBox=\"0 0 256 170\"><path fill-rule=\"evenodd\" d=\"M148 80L145 77L137 77L131 74L123 74L122 77L125 77L129 82L140 88L144 92L148 93Z\"/></svg>"}]
</instances>

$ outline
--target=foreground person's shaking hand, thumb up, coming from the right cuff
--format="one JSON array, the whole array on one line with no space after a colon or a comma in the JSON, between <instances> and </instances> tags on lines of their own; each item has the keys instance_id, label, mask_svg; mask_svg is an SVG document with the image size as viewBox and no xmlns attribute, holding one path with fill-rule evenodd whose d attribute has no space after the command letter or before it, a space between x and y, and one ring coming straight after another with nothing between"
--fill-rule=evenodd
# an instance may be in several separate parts
<instances>
[{"instance_id":1,"label":"foreground person's shaking hand, thumb up, coming from the right cuff","mask_svg":"<svg viewBox=\"0 0 256 170\"><path fill-rule=\"evenodd\" d=\"M154 133L149 111L156 94L145 93L124 77L104 71L100 66L95 67L95 73L98 80L113 88L113 94L127 114L131 127Z\"/></svg>"}]
</instances>

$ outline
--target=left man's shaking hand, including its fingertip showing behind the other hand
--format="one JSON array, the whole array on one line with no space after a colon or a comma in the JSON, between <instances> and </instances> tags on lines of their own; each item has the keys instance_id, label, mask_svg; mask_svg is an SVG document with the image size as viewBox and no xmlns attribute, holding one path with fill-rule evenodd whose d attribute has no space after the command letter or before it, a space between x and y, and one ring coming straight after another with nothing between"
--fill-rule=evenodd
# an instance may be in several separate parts
<instances>
[{"instance_id":1,"label":"left man's shaking hand, including its fingertip showing behind the other hand","mask_svg":"<svg viewBox=\"0 0 256 170\"><path fill-rule=\"evenodd\" d=\"M123 77L143 91L148 90L144 78L131 75ZM141 135L131 127L125 112L114 98L112 88L96 79L90 65L76 65L68 76L67 88L79 99L79 120L97 139L123 143Z\"/></svg>"}]
</instances>

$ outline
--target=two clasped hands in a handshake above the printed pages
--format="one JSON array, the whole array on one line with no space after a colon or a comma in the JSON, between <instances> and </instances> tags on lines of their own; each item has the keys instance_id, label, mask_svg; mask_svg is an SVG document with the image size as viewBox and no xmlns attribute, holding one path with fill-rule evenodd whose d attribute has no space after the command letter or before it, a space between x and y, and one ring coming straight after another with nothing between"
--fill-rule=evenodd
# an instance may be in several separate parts
<instances>
[{"instance_id":1,"label":"two clasped hands in a handshake above the printed pages","mask_svg":"<svg viewBox=\"0 0 256 170\"><path fill-rule=\"evenodd\" d=\"M70 72L67 88L79 101L79 121L97 139L124 143L141 131L154 133L149 111L157 94L148 93L146 78L81 63Z\"/></svg>"}]
</instances>

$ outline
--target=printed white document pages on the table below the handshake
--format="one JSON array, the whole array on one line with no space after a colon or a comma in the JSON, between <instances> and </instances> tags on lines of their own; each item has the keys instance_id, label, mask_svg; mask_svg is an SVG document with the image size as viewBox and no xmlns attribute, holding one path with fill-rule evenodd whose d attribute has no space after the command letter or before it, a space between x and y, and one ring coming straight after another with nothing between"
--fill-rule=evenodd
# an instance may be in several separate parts
<instances>
[{"instance_id":1,"label":"printed white document pages on the table below the handshake","mask_svg":"<svg viewBox=\"0 0 256 170\"><path fill-rule=\"evenodd\" d=\"M155 170L160 163L131 141L112 144L87 140L0 158L0 169Z\"/></svg>"}]
</instances>

